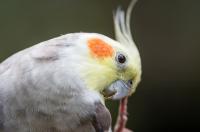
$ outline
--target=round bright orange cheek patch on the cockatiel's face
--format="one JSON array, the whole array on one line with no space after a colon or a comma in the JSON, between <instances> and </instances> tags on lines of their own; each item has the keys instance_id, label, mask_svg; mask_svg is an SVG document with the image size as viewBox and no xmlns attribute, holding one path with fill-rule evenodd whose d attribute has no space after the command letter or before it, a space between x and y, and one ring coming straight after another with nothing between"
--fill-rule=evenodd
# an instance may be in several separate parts
<instances>
[{"instance_id":1,"label":"round bright orange cheek patch on the cockatiel's face","mask_svg":"<svg viewBox=\"0 0 200 132\"><path fill-rule=\"evenodd\" d=\"M104 58L112 57L113 48L101 39L93 38L88 40L88 47L93 56Z\"/></svg>"}]
</instances>

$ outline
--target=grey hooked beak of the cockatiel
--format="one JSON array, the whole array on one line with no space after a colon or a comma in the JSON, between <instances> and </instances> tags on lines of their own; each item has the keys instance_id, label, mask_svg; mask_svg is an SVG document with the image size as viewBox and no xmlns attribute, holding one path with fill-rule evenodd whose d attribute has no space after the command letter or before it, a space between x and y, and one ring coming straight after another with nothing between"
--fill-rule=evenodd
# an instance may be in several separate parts
<instances>
[{"instance_id":1,"label":"grey hooked beak of the cockatiel","mask_svg":"<svg viewBox=\"0 0 200 132\"><path fill-rule=\"evenodd\" d=\"M102 94L106 98L120 100L130 94L131 85L129 82L117 80L113 82L108 88L104 89Z\"/></svg>"}]
</instances>

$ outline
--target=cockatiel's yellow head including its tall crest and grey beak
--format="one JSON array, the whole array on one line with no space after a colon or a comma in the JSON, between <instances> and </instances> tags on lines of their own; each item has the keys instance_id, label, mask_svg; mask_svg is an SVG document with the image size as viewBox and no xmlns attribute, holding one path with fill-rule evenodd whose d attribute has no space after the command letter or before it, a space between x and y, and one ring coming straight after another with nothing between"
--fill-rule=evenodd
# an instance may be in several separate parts
<instances>
[{"instance_id":1,"label":"cockatiel's yellow head including its tall crest and grey beak","mask_svg":"<svg viewBox=\"0 0 200 132\"><path fill-rule=\"evenodd\" d=\"M100 34L88 34L88 65L83 67L87 85L106 97L121 99L132 94L141 79L141 60L130 30L131 12L136 1L125 12L114 14L116 40Z\"/></svg>"}]
</instances>

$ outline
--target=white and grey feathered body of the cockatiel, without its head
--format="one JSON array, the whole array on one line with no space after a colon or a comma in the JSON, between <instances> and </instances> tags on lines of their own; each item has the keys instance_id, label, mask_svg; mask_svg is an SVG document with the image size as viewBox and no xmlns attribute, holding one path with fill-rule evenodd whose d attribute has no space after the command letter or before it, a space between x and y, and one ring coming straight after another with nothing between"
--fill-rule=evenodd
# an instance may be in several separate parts
<instances>
[{"instance_id":1,"label":"white and grey feathered body of the cockatiel, without its head","mask_svg":"<svg viewBox=\"0 0 200 132\"><path fill-rule=\"evenodd\" d=\"M86 88L78 76L81 65L70 63L72 59L79 62L80 56L72 53L82 52L79 48L84 44L76 43L81 39L79 36L84 36L80 34L43 42L0 65L4 129L77 132L78 126L84 126L86 130L80 129L81 132L92 130L94 106L101 103L101 96Z\"/></svg>"}]
</instances>

